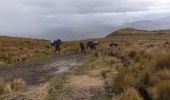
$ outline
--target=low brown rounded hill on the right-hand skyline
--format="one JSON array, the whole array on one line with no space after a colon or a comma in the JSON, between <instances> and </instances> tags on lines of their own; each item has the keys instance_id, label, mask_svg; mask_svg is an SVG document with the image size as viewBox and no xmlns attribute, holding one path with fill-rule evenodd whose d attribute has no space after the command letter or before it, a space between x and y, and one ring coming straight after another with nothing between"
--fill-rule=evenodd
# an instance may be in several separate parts
<instances>
[{"instance_id":1,"label":"low brown rounded hill on the right-hand skyline","mask_svg":"<svg viewBox=\"0 0 170 100\"><path fill-rule=\"evenodd\" d=\"M111 36L145 36L145 35L168 35L170 30L139 30L135 28L123 28L117 31L114 31L107 35L107 37Z\"/></svg>"}]
</instances>

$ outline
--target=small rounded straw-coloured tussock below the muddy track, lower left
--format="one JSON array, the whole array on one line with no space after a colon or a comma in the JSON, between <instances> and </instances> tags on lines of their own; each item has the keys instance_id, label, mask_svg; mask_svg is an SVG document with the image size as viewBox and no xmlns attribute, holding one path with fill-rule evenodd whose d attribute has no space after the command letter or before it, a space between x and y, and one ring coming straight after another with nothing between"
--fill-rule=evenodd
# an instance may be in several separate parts
<instances>
[{"instance_id":1,"label":"small rounded straw-coloured tussock below the muddy track, lower left","mask_svg":"<svg viewBox=\"0 0 170 100\"><path fill-rule=\"evenodd\" d=\"M26 83L22 79L16 79L11 83L11 89L13 91L21 91L26 88Z\"/></svg>"}]
</instances>

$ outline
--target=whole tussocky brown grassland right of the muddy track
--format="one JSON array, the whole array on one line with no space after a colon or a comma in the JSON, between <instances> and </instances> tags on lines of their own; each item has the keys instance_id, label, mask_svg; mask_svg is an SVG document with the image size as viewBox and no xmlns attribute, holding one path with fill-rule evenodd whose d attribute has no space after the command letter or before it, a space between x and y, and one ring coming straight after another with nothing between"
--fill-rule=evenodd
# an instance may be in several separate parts
<instances>
[{"instance_id":1,"label":"whole tussocky brown grassland right of the muddy track","mask_svg":"<svg viewBox=\"0 0 170 100\"><path fill-rule=\"evenodd\" d=\"M85 64L66 73L61 79L64 81L57 78L46 99L169 100L169 39L167 36L99 39L96 53L87 55ZM111 41L119 46L110 48Z\"/></svg>"}]
</instances>

